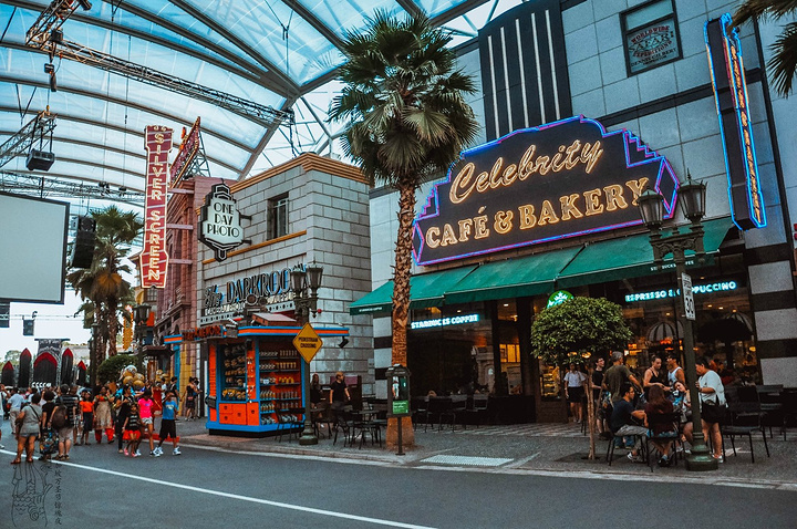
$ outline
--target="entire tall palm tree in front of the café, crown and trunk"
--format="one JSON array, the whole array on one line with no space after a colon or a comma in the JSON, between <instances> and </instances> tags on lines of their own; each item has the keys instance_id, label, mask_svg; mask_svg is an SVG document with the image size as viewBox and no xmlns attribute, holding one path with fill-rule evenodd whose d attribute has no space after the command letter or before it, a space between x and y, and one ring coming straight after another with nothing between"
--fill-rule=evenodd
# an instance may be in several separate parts
<instances>
[{"instance_id":1,"label":"entire tall palm tree in front of the caf\u00e9, crown and trunk","mask_svg":"<svg viewBox=\"0 0 797 529\"><path fill-rule=\"evenodd\" d=\"M362 32L344 35L342 51L348 61L340 69L344 87L329 113L331 120L345 123L345 154L372 183L398 191L394 364L406 365L415 191L426 178L445 172L478 129L464 98L475 85L455 70L455 54L446 48L449 41L426 15L396 20L376 11Z\"/></svg>"}]
</instances>

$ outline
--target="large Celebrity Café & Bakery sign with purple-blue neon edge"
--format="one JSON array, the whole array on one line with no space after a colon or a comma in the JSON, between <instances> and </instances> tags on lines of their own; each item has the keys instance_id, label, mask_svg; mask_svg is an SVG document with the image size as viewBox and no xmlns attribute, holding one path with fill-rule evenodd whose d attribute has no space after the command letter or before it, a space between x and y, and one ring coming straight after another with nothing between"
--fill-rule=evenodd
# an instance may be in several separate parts
<instances>
[{"instance_id":1,"label":"large Celebrity Caf\u00e9 & Bakery sign with purple-blue neon edge","mask_svg":"<svg viewBox=\"0 0 797 529\"><path fill-rule=\"evenodd\" d=\"M415 219L413 256L432 264L642 224L652 188L674 214L679 180L629 131L583 116L516 131L462 154Z\"/></svg>"}]
</instances>

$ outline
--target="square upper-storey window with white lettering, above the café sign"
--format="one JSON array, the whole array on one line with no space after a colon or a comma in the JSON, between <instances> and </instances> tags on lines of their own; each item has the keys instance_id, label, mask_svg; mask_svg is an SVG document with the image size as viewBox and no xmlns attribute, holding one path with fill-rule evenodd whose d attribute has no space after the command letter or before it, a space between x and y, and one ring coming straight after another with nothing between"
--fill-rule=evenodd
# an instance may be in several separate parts
<instances>
[{"instance_id":1,"label":"square upper-storey window with white lettering, above the caf\u00e9 sign","mask_svg":"<svg viewBox=\"0 0 797 529\"><path fill-rule=\"evenodd\" d=\"M654 0L620 13L620 24L629 75L681 59L673 0Z\"/></svg>"}]
</instances>

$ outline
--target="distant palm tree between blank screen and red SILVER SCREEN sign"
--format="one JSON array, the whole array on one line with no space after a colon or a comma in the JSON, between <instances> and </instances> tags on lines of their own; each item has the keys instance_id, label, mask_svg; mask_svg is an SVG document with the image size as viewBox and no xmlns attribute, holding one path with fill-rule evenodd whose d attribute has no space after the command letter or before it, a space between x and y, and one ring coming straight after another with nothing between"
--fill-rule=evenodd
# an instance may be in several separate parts
<instances>
[{"instance_id":1,"label":"distant palm tree between blank screen and red SILVER SCREEN sign","mask_svg":"<svg viewBox=\"0 0 797 529\"><path fill-rule=\"evenodd\" d=\"M83 300L80 310L85 314L85 322L100 326L91 359L91 370L95 373L105 360L106 350L108 356L116 354L118 318L123 315L124 303L132 298L131 284L122 277L122 272L130 273L131 269L122 259L143 224L136 214L121 211L115 206L94 211L92 216L97 224L94 259L90 268L71 270L66 280Z\"/></svg>"}]
</instances>

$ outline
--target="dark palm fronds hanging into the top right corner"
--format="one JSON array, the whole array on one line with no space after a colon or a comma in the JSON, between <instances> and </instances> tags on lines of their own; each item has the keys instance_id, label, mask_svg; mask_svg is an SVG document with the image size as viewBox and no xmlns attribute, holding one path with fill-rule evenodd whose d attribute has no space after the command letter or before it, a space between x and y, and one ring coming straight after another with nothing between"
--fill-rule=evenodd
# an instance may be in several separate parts
<instances>
[{"instance_id":1,"label":"dark palm fronds hanging into the top right corner","mask_svg":"<svg viewBox=\"0 0 797 529\"><path fill-rule=\"evenodd\" d=\"M797 14L794 0L745 0L733 17L735 27L748 20L773 18L775 20ZM797 22L789 22L772 45L773 56L767 63L769 75L778 94L786 97L791 92L797 71Z\"/></svg>"}]
</instances>

